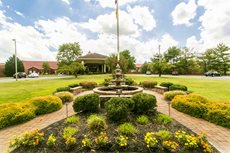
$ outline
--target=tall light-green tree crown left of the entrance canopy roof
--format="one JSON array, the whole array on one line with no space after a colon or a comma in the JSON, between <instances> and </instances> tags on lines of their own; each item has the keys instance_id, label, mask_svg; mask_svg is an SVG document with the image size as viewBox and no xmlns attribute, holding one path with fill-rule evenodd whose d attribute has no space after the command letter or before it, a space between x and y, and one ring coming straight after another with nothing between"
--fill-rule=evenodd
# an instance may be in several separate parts
<instances>
[{"instance_id":1,"label":"tall light-green tree crown left of the entrance canopy roof","mask_svg":"<svg viewBox=\"0 0 230 153\"><path fill-rule=\"evenodd\" d=\"M58 65L70 65L81 55L79 43L66 43L59 47L57 54Z\"/></svg>"}]
</instances>

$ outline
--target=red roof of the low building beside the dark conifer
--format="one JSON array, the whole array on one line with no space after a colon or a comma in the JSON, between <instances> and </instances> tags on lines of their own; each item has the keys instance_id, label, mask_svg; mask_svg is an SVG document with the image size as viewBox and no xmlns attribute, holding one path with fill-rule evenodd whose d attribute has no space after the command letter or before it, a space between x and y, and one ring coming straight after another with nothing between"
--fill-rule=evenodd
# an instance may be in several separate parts
<instances>
[{"instance_id":1,"label":"red roof of the low building beside the dark conifer","mask_svg":"<svg viewBox=\"0 0 230 153\"><path fill-rule=\"evenodd\" d=\"M37 68L39 70L42 70L43 69L42 64L44 62L48 62L51 69L54 69L54 70L57 69L57 62L56 61L22 61L25 70L28 70L32 67Z\"/></svg>"}]
</instances>

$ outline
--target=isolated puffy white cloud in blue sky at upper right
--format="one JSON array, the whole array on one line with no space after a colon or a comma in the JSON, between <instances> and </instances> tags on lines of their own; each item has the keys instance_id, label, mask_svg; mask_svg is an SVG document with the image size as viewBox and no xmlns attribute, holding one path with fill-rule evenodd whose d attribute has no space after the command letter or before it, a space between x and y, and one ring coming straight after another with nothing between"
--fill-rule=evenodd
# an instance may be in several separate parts
<instances>
[{"instance_id":1,"label":"isolated puffy white cloud in blue sky at upper right","mask_svg":"<svg viewBox=\"0 0 230 153\"><path fill-rule=\"evenodd\" d=\"M191 26L190 20L196 16L196 9L195 0L189 0L187 4L184 2L179 3L171 13L173 25L185 24L186 26Z\"/></svg>"}]
</instances>

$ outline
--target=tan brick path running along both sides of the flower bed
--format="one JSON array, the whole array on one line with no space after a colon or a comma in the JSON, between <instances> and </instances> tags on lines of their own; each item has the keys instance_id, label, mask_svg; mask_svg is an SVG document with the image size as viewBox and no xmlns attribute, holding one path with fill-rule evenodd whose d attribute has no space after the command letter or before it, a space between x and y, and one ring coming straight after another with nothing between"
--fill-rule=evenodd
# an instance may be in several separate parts
<instances>
[{"instance_id":1,"label":"tan brick path running along both sides of the flower bed","mask_svg":"<svg viewBox=\"0 0 230 153\"><path fill-rule=\"evenodd\" d=\"M144 92L155 95L157 98L158 105L157 110L161 113L168 114L168 104L165 100L163 100L163 96L161 94L158 94L150 90L145 90ZM77 96L89 93L92 93L92 91L85 91L78 94ZM69 116L75 114L71 106L72 104L70 103L68 107ZM222 153L230 153L229 129L217 126L202 119L191 117L184 113L178 112L173 108L171 108L171 117L173 117L175 120L191 129L195 133L199 134L205 131L207 133L209 142L213 146L215 146ZM26 123L0 130L0 153L7 152L8 142L9 140L11 140L13 135L22 135L24 131L31 131L36 128L43 129L49 126L50 124L55 123L64 118L66 118L65 106L59 111L42 115Z\"/></svg>"}]
</instances>

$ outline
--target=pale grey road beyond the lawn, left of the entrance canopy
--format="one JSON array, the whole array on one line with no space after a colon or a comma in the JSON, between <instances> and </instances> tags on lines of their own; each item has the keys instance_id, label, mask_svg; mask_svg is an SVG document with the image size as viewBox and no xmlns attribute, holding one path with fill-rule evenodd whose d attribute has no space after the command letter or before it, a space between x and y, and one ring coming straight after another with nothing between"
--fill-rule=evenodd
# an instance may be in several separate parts
<instances>
[{"instance_id":1,"label":"pale grey road beyond the lawn, left of the entrance canopy","mask_svg":"<svg viewBox=\"0 0 230 153\"><path fill-rule=\"evenodd\" d=\"M38 78L21 78L18 79L18 81L23 81L23 80L47 80L47 79L60 79L60 78L73 78L73 76L41 76ZM16 79L14 78L0 78L0 83L1 82L15 82Z\"/></svg>"}]
</instances>

